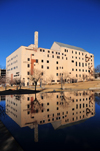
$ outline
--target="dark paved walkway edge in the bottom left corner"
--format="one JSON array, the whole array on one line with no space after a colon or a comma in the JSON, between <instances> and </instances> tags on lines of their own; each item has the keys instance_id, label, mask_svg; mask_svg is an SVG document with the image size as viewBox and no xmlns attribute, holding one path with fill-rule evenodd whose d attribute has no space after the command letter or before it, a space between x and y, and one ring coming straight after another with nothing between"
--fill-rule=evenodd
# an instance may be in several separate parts
<instances>
[{"instance_id":1,"label":"dark paved walkway edge in the bottom left corner","mask_svg":"<svg viewBox=\"0 0 100 151\"><path fill-rule=\"evenodd\" d=\"M14 137L0 121L0 151L23 151Z\"/></svg>"}]
</instances>

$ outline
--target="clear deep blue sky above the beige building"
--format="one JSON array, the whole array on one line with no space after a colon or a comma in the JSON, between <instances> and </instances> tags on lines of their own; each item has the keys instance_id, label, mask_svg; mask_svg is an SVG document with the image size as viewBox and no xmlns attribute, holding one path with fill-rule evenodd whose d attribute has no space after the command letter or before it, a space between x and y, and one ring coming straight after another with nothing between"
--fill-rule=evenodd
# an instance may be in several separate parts
<instances>
[{"instance_id":1,"label":"clear deep blue sky above the beige building","mask_svg":"<svg viewBox=\"0 0 100 151\"><path fill-rule=\"evenodd\" d=\"M100 64L100 0L0 0L0 65L21 45L54 41L93 53Z\"/></svg>"}]
</instances>

